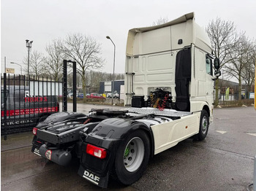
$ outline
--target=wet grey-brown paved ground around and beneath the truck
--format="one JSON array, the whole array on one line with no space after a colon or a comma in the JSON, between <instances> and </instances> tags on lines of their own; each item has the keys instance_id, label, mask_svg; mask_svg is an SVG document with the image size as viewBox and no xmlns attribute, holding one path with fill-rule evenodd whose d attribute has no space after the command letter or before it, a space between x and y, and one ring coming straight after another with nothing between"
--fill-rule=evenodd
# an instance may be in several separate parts
<instances>
[{"instance_id":1,"label":"wet grey-brown paved ground around and beneath the truck","mask_svg":"<svg viewBox=\"0 0 256 191\"><path fill-rule=\"evenodd\" d=\"M78 105L78 111L93 107L102 108ZM151 158L135 184L110 180L108 190L246 190L253 180L255 124L253 107L215 109L206 140L182 141ZM78 162L61 167L32 154L31 139L31 133L1 139L1 190L102 190L78 176Z\"/></svg>"}]
</instances>

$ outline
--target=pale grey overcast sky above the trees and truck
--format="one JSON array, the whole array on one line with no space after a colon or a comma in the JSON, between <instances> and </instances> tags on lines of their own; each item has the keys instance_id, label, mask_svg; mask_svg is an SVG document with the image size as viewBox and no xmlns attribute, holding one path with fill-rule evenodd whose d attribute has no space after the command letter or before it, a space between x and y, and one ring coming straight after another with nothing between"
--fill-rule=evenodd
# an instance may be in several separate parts
<instances>
[{"instance_id":1,"label":"pale grey overcast sky above the trees and truck","mask_svg":"<svg viewBox=\"0 0 256 191\"><path fill-rule=\"evenodd\" d=\"M82 33L102 45L102 71L108 73L113 72L113 44L105 36L110 36L116 44L115 72L123 73L129 29L189 12L195 12L195 21L203 28L220 17L256 39L255 0L1 0L1 72L4 56L7 68L20 72L20 66L10 62L23 63L28 53L26 39L34 41L32 51L47 55L45 46L53 39Z\"/></svg>"}]
</instances>

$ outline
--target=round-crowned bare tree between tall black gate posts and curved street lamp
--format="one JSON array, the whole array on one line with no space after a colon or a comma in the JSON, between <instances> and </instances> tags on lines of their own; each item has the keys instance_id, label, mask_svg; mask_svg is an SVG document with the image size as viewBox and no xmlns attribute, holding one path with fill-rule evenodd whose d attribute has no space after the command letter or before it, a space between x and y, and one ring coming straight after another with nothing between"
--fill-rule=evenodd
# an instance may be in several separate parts
<instances>
[{"instance_id":1,"label":"round-crowned bare tree between tall black gate posts and curved street lamp","mask_svg":"<svg viewBox=\"0 0 256 191\"><path fill-rule=\"evenodd\" d=\"M78 74L83 81L83 95L86 95L86 71L99 69L104 61L100 57L101 47L91 36L69 34L61 44L61 50L67 59L78 64ZM86 96L84 96L84 99Z\"/></svg>"}]
</instances>

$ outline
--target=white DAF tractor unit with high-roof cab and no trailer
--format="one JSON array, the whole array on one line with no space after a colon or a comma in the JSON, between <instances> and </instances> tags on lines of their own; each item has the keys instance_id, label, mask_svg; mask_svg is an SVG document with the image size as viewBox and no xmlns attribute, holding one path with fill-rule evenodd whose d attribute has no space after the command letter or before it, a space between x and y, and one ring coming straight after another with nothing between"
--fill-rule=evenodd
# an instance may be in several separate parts
<instances>
[{"instance_id":1,"label":"white DAF tractor unit with high-roof cab and no trailer","mask_svg":"<svg viewBox=\"0 0 256 191\"><path fill-rule=\"evenodd\" d=\"M34 128L32 152L59 165L80 158L78 174L99 187L109 176L138 181L150 157L194 136L202 141L213 119L219 59L189 13L169 23L129 30L125 105L89 114L52 114Z\"/></svg>"}]
</instances>

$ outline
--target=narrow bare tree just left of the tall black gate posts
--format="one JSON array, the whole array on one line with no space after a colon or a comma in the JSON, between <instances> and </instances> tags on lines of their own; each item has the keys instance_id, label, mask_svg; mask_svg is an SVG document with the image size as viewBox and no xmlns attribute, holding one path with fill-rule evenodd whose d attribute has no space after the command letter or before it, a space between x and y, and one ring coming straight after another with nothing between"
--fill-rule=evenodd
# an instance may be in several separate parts
<instances>
[{"instance_id":1,"label":"narrow bare tree just left of the tall black gate posts","mask_svg":"<svg viewBox=\"0 0 256 191\"><path fill-rule=\"evenodd\" d=\"M54 39L51 44L45 48L48 57L45 59L45 71L56 81L62 76L62 65L64 53L60 48L61 40Z\"/></svg>"}]
</instances>

